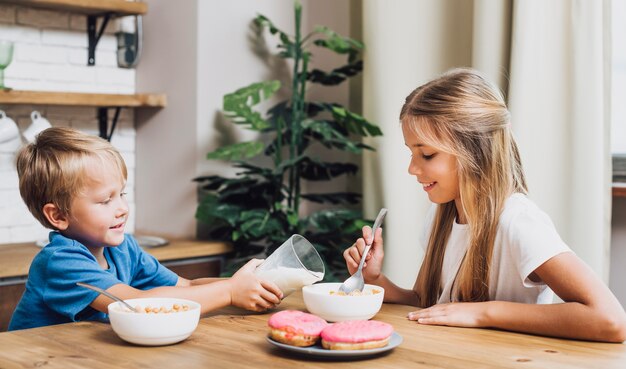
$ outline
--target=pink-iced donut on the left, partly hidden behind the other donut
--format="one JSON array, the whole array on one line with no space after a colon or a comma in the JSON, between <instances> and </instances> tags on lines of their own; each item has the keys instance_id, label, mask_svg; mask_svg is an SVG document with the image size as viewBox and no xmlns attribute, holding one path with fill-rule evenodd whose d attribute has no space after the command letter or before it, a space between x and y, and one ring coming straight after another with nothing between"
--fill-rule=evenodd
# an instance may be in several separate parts
<instances>
[{"instance_id":1,"label":"pink-iced donut on the left, partly hidden behind the other donut","mask_svg":"<svg viewBox=\"0 0 626 369\"><path fill-rule=\"evenodd\" d=\"M313 346L328 323L313 314L297 310L283 310L273 314L267 321L269 336L291 346Z\"/></svg>"}]
</instances>

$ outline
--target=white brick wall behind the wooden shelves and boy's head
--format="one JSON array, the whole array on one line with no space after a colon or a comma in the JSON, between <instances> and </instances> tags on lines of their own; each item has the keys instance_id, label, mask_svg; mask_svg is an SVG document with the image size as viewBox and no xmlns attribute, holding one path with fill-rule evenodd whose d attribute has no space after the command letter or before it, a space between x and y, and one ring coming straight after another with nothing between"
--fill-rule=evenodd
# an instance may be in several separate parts
<instances>
[{"instance_id":1,"label":"white brick wall behind the wooden shelves and boy's head","mask_svg":"<svg viewBox=\"0 0 626 369\"><path fill-rule=\"evenodd\" d=\"M14 42L13 62L5 70L5 84L15 90L134 93L135 71L117 67L117 22L109 22L92 67L87 66L86 24L86 16L78 14L0 4L0 39ZM53 126L98 133L96 108L0 103L0 110L17 123L20 131L30 125L30 113L37 110ZM133 122L134 112L122 109L111 141L129 169L131 216L126 230L131 233L135 228ZM45 239L49 232L32 217L20 198L14 158L14 153L0 148L0 244Z\"/></svg>"}]
</instances>

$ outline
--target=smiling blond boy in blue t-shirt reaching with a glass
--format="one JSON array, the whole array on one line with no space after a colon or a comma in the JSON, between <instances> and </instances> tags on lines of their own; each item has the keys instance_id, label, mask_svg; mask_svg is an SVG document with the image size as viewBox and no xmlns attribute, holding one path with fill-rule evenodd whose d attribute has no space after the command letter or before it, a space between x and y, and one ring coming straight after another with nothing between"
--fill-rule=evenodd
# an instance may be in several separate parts
<instances>
[{"instance_id":1,"label":"smiling blond boy in blue t-shirt reaching with a glass","mask_svg":"<svg viewBox=\"0 0 626 369\"><path fill-rule=\"evenodd\" d=\"M254 274L260 260L229 279L187 280L143 252L124 233L127 171L109 142L71 128L49 128L20 150L17 171L28 209L54 231L31 264L9 330L106 319L111 300L76 282L123 299L195 300L202 313L231 304L262 311L280 303L280 289Z\"/></svg>"}]
</instances>

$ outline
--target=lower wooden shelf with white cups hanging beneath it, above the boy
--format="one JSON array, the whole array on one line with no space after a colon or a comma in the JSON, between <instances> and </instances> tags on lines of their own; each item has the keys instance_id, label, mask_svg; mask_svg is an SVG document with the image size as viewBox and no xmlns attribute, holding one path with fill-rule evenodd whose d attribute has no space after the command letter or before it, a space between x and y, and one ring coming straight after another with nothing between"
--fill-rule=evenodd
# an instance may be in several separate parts
<instances>
[{"instance_id":1,"label":"lower wooden shelf with white cups hanging beneath it, above the boy","mask_svg":"<svg viewBox=\"0 0 626 369\"><path fill-rule=\"evenodd\" d=\"M92 94L47 91L1 91L0 105L39 104L64 106L94 106L122 108L163 108L167 105L164 94Z\"/></svg>"}]
</instances>

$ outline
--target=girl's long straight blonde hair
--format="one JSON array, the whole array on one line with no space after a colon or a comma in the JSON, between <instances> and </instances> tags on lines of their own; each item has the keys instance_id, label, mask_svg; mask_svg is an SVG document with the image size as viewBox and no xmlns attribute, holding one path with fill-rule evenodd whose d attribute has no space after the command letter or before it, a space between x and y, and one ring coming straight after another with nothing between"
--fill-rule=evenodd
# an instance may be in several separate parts
<instances>
[{"instance_id":1,"label":"girl's long straight blonde hair","mask_svg":"<svg viewBox=\"0 0 626 369\"><path fill-rule=\"evenodd\" d=\"M423 144L457 159L470 239L450 299L486 301L500 213L512 193L528 191L504 98L476 71L457 68L415 89L402 106L400 121ZM455 217L454 201L438 205L415 285L422 307L436 304L441 294L443 258Z\"/></svg>"}]
</instances>

